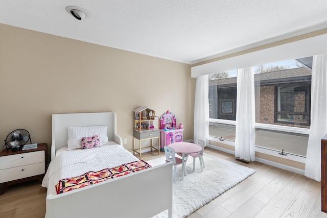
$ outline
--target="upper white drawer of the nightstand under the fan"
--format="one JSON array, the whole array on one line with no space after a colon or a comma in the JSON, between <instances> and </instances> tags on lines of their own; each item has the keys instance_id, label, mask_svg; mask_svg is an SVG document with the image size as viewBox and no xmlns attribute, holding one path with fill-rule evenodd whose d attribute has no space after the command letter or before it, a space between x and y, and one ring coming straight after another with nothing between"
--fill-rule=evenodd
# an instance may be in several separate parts
<instances>
[{"instance_id":1,"label":"upper white drawer of the nightstand under the fan","mask_svg":"<svg viewBox=\"0 0 327 218\"><path fill-rule=\"evenodd\" d=\"M0 169L8 169L16 166L28 165L43 162L44 151L35 151L29 153L13 154L0 157ZM9 181L9 180L8 180Z\"/></svg>"}]
</instances>

